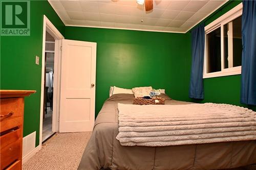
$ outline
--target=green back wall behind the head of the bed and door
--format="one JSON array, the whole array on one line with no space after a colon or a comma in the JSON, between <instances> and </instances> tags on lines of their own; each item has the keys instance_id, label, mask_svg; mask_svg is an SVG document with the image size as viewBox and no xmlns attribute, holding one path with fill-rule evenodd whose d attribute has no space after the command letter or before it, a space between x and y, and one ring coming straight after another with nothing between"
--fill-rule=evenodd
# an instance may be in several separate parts
<instances>
[{"instance_id":1,"label":"green back wall behind the head of the bed and door","mask_svg":"<svg viewBox=\"0 0 256 170\"><path fill-rule=\"evenodd\" d=\"M189 100L189 34L66 27L65 38L97 42L96 115L113 85L164 88Z\"/></svg>"}]
</instances>

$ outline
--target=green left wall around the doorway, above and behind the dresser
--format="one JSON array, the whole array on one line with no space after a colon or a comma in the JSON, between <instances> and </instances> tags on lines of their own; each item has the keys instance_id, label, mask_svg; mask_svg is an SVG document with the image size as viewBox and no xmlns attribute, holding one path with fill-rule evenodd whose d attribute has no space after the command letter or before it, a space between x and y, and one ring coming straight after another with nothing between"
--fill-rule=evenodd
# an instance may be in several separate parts
<instances>
[{"instance_id":1,"label":"green left wall around the doorway, above and behind the dresser","mask_svg":"<svg viewBox=\"0 0 256 170\"><path fill-rule=\"evenodd\" d=\"M24 134L36 131L39 144L41 55L43 15L62 33L65 25L48 1L30 2L30 36L2 36L1 41L1 89L36 90L25 98ZM35 56L40 65L35 64Z\"/></svg>"}]
</instances>

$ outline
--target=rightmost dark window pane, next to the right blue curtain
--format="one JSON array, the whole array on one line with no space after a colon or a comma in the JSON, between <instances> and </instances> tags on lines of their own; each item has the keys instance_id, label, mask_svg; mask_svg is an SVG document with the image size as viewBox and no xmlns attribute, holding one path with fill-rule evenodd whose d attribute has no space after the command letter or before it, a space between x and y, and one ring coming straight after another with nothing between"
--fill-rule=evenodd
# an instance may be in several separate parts
<instances>
[{"instance_id":1,"label":"rightmost dark window pane, next to the right blue curtain","mask_svg":"<svg viewBox=\"0 0 256 170\"><path fill-rule=\"evenodd\" d=\"M242 17L232 21L233 23L233 67L242 63Z\"/></svg>"}]
</instances>

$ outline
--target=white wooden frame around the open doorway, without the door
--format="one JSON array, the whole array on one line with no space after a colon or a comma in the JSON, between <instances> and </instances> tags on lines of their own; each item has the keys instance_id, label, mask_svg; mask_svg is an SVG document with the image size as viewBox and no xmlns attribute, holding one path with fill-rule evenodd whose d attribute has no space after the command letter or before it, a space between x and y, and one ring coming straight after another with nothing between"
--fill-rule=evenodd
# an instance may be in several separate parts
<instances>
[{"instance_id":1,"label":"white wooden frame around the open doorway, without the door","mask_svg":"<svg viewBox=\"0 0 256 170\"><path fill-rule=\"evenodd\" d=\"M44 82L45 82L45 43L46 31L55 39L54 48L54 80L53 80L53 117L52 131L59 131L59 102L60 102L60 72L61 72L61 44L64 37L55 28L53 23L44 15L42 28L42 69L41 69L41 102L40 102L40 129L39 129L39 147L42 145L42 117L45 112L44 108Z\"/></svg>"}]
</instances>

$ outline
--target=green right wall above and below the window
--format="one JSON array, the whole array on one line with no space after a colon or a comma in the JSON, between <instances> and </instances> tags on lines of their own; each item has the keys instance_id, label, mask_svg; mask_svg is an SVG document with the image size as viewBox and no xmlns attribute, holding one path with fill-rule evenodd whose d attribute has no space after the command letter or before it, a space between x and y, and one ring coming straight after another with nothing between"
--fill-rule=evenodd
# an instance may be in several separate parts
<instances>
[{"instance_id":1,"label":"green right wall above and below the window","mask_svg":"<svg viewBox=\"0 0 256 170\"><path fill-rule=\"evenodd\" d=\"M207 26L209 23L219 18L240 3L241 1L229 1L202 22L205 22L205 26ZM228 103L256 110L256 106L248 106L240 103L240 91L241 75L207 78L204 79L204 100L193 101L199 103Z\"/></svg>"}]
</instances>

